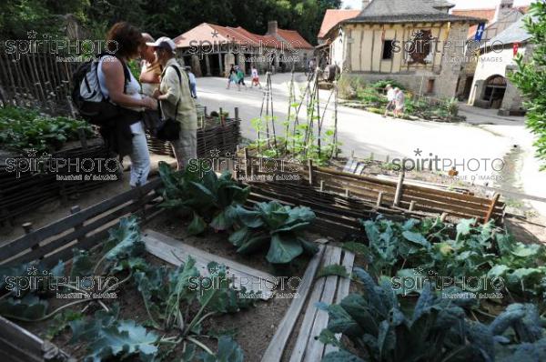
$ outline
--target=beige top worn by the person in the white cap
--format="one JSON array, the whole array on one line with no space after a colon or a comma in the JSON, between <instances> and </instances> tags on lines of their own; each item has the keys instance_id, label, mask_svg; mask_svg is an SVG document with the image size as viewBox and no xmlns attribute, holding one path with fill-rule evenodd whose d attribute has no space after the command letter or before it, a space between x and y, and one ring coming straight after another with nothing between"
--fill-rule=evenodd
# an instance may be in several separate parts
<instances>
[{"instance_id":1,"label":"beige top worn by the person in the white cap","mask_svg":"<svg viewBox=\"0 0 546 362\"><path fill-rule=\"evenodd\" d=\"M177 66L182 75L182 82L180 83L177 71L172 66ZM176 115L177 121L180 122L181 129L194 130L197 129L197 111L194 99L191 97L189 91L189 81L187 79L186 72L178 65L175 58L168 60L167 65L161 75L161 85L159 90L162 95L167 95L167 99L161 101L161 111L163 117L175 118L178 103L178 113Z\"/></svg>"}]
</instances>

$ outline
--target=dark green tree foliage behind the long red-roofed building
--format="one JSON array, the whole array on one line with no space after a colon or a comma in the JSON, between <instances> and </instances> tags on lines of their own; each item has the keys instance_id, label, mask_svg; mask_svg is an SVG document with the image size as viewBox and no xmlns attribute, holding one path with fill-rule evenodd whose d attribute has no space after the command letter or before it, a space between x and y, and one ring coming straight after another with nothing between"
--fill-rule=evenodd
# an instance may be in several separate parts
<instances>
[{"instance_id":1,"label":"dark green tree foliage behind the long red-roofed building","mask_svg":"<svg viewBox=\"0 0 546 362\"><path fill-rule=\"evenodd\" d=\"M280 28L298 30L315 43L326 9L340 5L340 0L5 0L0 3L0 35L25 37L30 30L59 34L63 16L72 14L92 35L104 34L122 20L155 37L176 37L204 22L265 34L268 21L277 20Z\"/></svg>"}]
</instances>

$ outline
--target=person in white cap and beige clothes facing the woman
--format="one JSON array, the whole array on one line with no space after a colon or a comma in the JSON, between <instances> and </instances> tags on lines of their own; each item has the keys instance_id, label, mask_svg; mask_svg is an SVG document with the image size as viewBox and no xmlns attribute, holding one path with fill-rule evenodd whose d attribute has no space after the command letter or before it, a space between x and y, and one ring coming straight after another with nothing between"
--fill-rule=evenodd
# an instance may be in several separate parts
<instances>
[{"instance_id":1,"label":"person in white cap and beige clothes facing the woman","mask_svg":"<svg viewBox=\"0 0 546 362\"><path fill-rule=\"evenodd\" d=\"M147 43L156 50L157 60L163 66L161 84L154 97L161 102L164 119L180 123L180 138L172 141L178 169L187 166L191 158L197 158L197 111L189 90L187 74L175 59L177 45L167 36Z\"/></svg>"}]
</instances>

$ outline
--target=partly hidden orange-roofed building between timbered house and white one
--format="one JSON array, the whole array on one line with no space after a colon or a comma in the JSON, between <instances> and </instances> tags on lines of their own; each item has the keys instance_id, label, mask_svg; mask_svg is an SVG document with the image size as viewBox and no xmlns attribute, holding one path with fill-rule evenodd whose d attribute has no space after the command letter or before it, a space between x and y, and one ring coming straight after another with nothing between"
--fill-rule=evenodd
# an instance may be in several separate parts
<instances>
[{"instance_id":1,"label":"partly hidden orange-roofed building between timbered house and white one","mask_svg":"<svg viewBox=\"0 0 546 362\"><path fill-rule=\"evenodd\" d=\"M487 44L490 43L490 40L494 36L501 34L507 27L517 22L529 9L528 6L514 7L513 0L498 1L499 4L493 8L453 10L452 14L485 19L485 27L479 37L481 38L480 44ZM475 51L480 48L478 42L474 41L477 31L477 25L470 26L468 34L469 49L466 53L467 62L463 64L457 90L457 96L460 100L469 99L471 86L474 81L474 73L478 62L478 57L474 55Z\"/></svg>"}]
</instances>

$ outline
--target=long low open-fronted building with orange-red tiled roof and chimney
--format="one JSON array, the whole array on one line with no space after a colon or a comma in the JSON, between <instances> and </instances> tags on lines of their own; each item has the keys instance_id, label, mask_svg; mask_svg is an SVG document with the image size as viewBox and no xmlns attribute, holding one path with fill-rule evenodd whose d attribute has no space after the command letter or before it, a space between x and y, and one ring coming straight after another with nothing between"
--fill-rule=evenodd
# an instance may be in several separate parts
<instances>
[{"instance_id":1,"label":"long low open-fronted building with orange-red tiled roof and chimney","mask_svg":"<svg viewBox=\"0 0 546 362\"><path fill-rule=\"evenodd\" d=\"M252 65L260 72L301 70L314 47L294 30L279 29L268 22L265 35L250 33L241 26L197 25L175 39L179 60L192 67L197 76L225 76L230 65L250 73Z\"/></svg>"}]
</instances>

